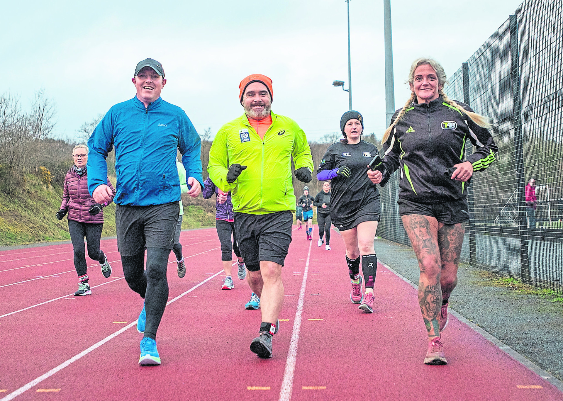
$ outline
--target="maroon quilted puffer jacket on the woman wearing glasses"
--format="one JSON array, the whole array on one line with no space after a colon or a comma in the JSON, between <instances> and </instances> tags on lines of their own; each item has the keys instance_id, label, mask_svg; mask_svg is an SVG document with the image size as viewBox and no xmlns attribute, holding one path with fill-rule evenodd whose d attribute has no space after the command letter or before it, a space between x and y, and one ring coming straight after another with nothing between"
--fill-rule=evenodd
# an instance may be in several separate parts
<instances>
[{"instance_id":1,"label":"maroon quilted puffer jacket on the woman wearing glasses","mask_svg":"<svg viewBox=\"0 0 563 401\"><path fill-rule=\"evenodd\" d=\"M88 172L84 171L79 176L75 171L76 166L70 167L65 176L65 185L62 191L61 210L68 210L68 219L83 223L100 224L104 222L104 211L100 211L97 215L91 215L88 210L94 203L94 198L88 192ZM84 167L86 170L86 167ZM115 189L108 180L108 186L115 195ZM108 206L110 202L102 203L102 207Z\"/></svg>"}]
</instances>

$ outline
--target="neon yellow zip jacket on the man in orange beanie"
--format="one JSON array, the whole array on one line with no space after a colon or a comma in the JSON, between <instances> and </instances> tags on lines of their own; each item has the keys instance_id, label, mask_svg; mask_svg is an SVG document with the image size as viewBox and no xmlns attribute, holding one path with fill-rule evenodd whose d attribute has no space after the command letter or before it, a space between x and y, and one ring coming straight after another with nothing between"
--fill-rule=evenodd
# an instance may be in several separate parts
<instances>
[{"instance_id":1,"label":"neon yellow zip jacket on the man in orange beanie","mask_svg":"<svg viewBox=\"0 0 563 401\"><path fill-rule=\"evenodd\" d=\"M272 124L260 139L246 114L220 128L209 150L207 172L221 190L231 191L233 210L251 215L295 211L291 158L296 170L313 171L305 132L291 118L271 113ZM227 182L231 164L247 166Z\"/></svg>"}]
</instances>

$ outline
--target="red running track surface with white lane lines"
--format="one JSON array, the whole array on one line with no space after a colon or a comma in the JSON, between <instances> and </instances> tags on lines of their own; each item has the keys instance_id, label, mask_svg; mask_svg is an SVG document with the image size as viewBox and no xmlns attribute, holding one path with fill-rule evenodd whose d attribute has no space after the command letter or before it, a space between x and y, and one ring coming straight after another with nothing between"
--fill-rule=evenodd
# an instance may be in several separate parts
<instances>
[{"instance_id":1,"label":"red running track surface with white lane lines","mask_svg":"<svg viewBox=\"0 0 563 401\"><path fill-rule=\"evenodd\" d=\"M293 231L274 358L248 348L260 311L235 277L221 291L215 229L182 232L186 277L171 254L169 305L158 331L162 365L138 367L142 300L89 266L92 295L74 297L72 245L0 252L0 401L21 400L563 400L563 393L450 315L447 366L426 366L415 289L379 264L375 313L350 302L341 237L332 251ZM236 269L233 269L236 274ZM47 299L48 298L48 299Z\"/></svg>"}]
</instances>

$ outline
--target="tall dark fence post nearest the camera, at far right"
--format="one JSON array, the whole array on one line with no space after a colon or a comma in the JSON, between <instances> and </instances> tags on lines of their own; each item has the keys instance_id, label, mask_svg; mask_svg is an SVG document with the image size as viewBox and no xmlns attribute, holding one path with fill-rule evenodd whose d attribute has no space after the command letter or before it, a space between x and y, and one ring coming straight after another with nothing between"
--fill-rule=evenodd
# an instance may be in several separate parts
<instances>
[{"instance_id":1,"label":"tall dark fence post nearest the camera, at far right","mask_svg":"<svg viewBox=\"0 0 563 401\"><path fill-rule=\"evenodd\" d=\"M514 127L514 154L516 162L516 189L518 199L518 229L520 237L520 277L529 281L528 228L526 227L526 194L524 176L524 141L522 139L522 103L520 96L520 57L518 51L518 16L508 17L510 26L510 56L512 61L512 126Z\"/></svg>"}]
</instances>

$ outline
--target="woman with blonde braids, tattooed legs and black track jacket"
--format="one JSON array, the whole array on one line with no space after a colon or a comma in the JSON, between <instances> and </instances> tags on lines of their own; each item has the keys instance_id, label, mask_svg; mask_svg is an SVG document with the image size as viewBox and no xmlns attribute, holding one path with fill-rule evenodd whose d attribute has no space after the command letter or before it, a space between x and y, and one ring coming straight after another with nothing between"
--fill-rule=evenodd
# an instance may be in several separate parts
<instances>
[{"instance_id":1,"label":"woman with blonde braids, tattooed legs and black track jacket","mask_svg":"<svg viewBox=\"0 0 563 401\"><path fill-rule=\"evenodd\" d=\"M385 175L401 168L397 203L420 265L418 301L428 331L424 363L431 365L448 363L440 335L448 324L448 299L457 284L469 219L467 186L473 171L494 162L498 149L486 118L448 99L446 78L437 61L415 60L408 80L411 96L383 135ZM476 151L466 158L467 139ZM452 167L455 171L445 175ZM383 178L379 171L368 175L374 183Z\"/></svg>"}]
</instances>

